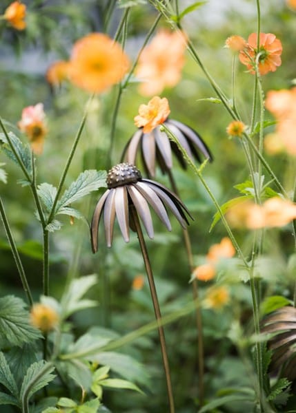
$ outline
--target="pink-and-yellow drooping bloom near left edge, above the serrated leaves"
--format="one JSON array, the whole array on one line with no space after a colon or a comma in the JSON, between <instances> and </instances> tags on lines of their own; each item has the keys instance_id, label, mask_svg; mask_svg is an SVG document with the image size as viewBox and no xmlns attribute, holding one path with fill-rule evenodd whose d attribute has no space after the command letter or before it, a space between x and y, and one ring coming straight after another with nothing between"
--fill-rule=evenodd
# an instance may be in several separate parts
<instances>
[{"instance_id":1,"label":"pink-and-yellow drooping bloom near left edge, above the serrated leaves","mask_svg":"<svg viewBox=\"0 0 296 413\"><path fill-rule=\"evenodd\" d=\"M44 137L47 133L45 116L43 104L37 103L23 109L18 123L19 129L28 136L32 151L37 155L43 151Z\"/></svg>"}]
</instances>

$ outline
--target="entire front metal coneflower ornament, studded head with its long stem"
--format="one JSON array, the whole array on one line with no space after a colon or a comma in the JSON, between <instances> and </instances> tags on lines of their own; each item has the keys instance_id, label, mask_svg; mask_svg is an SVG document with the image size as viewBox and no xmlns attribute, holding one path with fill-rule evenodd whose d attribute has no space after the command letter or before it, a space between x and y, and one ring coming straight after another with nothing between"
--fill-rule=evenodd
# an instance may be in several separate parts
<instances>
[{"instance_id":1,"label":"entire front metal coneflower ornament, studded head with its long stem","mask_svg":"<svg viewBox=\"0 0 296 413\"><path fill-rule=\"evenodd\" d=\"M148 237L154 236L152 217L150 207L157 213L161 222L164 223L168 231L171 231L170 220L166 208L175 215L181 226L185 229L189 224L187 215L191 217L186 206L179 200L175 193L172 193L164 185L150 179L144 179L135 165L130 163L120 163L112 167L107 175L108 189L99 199L91 222L91 242L93 253L98 249L99 222L103 215L103 226L107 246L112 244L112 235L115 223L115 216L119 223L119 228L125 242L129 242L129 229L137 233L141 253L143 255L146 273L152 297L152 303L155 311L155 317L158 321L159 341L161 345L161 354L166 374L166 385L168 389L168 401L170 413L175 412L174 399L172 394L172 384L170 381L170 368L168 364L168 354L166 351L166 339L164 328L161 326L161 311L157 298L152 268L144 240L144 234L141 229L140 219L143 223ZM186 215L187 214L187 215Z\"/></svg>"}]
</instances>

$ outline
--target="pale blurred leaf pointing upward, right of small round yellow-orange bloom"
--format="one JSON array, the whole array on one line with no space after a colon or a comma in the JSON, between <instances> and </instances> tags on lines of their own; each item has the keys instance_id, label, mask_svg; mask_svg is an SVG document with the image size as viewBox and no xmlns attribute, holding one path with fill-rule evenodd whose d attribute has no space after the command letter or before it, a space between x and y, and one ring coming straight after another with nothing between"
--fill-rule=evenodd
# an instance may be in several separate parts
<instances>
[{"instance_id":1,"label":"pale blurred leaf pointing upward, right of small round yellow-orange bloom","mask_svg":"<svg viewBox=\"0 0 296 413\"><path fill-rule=\"evenodd\" d=\"M87 291L97 284L97 275L86 275L78 279L74 279L67 293L63 297L63 313L65 317L75 313L83 308L97 306L97 301L90 299L81 299Z\"/></svg>"}]
</instances>

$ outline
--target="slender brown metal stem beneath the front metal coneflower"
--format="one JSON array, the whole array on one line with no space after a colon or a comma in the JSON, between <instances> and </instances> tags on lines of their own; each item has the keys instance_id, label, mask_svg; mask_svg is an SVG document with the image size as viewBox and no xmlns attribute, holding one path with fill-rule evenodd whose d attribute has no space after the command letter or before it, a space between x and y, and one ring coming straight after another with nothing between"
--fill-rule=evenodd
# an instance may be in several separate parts
<instances>
[{"instance_id":1,"label":"slender brown metal stem beneath the front metal coneflower","mask_svg":"<svg viewBox=\"0 0 296 413\"><path fill-rule=\"evenodd\" d=\"M150 293L151 293L151 298L152 298L152 304L153 304L153 308L154 308L154 311L155 311L155 318L157 319L157 322L158 322L157 327L158 327L158 332L159 332L159 341L160 341L160 346L161 346L161 354L162 354L162 359L163 359L163 362L164 362L164 372L166 374L166 386L167 386L167 390L168 390L168 402L169 402L169 405L170 405L170 413L174 413L175 412L175 403L174 403L174 398L173 398L173 394L172 394L172 383L171 383L171 380L170 380L170 366L168 364L168 353L167 353L167 350L166 350L166 339L165 339L165 336L164 336L164 328L159 323L159 321L161 321L161 312L160 312L160 308L159 308L159 301L158 301L158 298L157 298L157 291L156 291L156 287L155 287L154 277L153 277L152 268L151 268L151 264L150 264L150 260L149 260L149 256L148 256L148 251L147 251L147 248L146 248L146 243L145 243L145 240L144 240L144 235L143 235L143 232L141 230L141 224L139 222L139 217L137 215L137 211L132 206L130 207L130 211L132 213L132 217L133 217L133 220L135 222L135 229L137 231L137 236L138 236L139 244L140 244L140 247L141 247L141 253L143 255L144 264L145 264L145 268L146 268L146 273L147 273L147 277L148 277Z\"/></svg>"}]
</instances>

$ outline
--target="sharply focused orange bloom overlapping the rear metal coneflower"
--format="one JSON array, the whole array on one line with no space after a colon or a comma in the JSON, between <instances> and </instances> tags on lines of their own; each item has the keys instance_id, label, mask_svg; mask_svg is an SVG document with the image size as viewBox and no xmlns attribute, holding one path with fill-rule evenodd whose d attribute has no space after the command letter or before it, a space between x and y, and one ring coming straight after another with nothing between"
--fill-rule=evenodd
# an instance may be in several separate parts
<instances>
[{"instance_id":1,"label":"sharply focused orange bloom overlapping the rear metal coneflower","mask_svg":"<svg viewBox=\"0 0 296 413\"><path fill-rule=\"evenodd\" d=\"M135 125L143 127L144 134L148 134L152 129L164 123L170 114L170 107L167 98L154 96L149 100L148 105L139 106L139 115L135 116Z\"/></svg>"}]
</instances>

